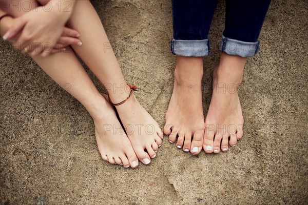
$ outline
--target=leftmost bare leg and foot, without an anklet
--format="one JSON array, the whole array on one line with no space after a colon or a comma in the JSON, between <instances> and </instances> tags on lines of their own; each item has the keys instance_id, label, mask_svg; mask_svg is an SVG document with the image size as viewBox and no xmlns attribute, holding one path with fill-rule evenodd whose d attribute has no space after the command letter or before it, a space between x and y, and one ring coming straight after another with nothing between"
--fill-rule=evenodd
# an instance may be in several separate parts
<instances>
[{"instance_id":1,"label":"leftmost bare leg and foot, without an anklet","mask_svg":"<svg viewBox=\"0 0 308 205\"><path fill-rule=\"evenodd\" d=\"M33 3L33 8L37 5ZM10 11L15 17L21 12ZM78 99L93 117L95 136L102 158L110 163L123 163L125 167L137 167L138 159L129 139L122 129L109 102L95 88L73 51L52 54L48 57L35 56L36 63L52 78ZM115 132L112 128L117 128Z\"/></svg>"}]
</instances>

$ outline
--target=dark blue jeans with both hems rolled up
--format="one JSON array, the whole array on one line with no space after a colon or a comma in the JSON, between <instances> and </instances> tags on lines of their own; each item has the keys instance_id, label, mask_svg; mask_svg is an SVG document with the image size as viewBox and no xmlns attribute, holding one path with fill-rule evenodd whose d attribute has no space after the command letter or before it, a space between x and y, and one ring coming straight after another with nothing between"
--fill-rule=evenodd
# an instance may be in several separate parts
<instances>
[{"instance_id":1,"label":"dark blue jeans with both hems rolled up","mask_svg":"<svg viewBox=\"0 0 308 205\"><path fill-rule=\"evenodd\" d=\"M225 0L225 29L220 50L251 57L259 50L258 37L271 0ZM217 0L172 0L173 54L188 57L209 55L208 32Z\"/></svg>"}]
</instances>

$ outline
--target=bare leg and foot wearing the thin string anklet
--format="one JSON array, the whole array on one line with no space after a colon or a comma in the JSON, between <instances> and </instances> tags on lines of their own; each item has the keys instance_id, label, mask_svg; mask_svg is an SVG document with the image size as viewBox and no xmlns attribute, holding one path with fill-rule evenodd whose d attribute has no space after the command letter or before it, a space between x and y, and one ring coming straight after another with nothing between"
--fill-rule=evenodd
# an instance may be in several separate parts
<instances>
[{"instance_id":1,"label":"bare leg and foot wearing the thin string anklet","mask_svg":"<svg viewBox=\"0 0 308 205\"><path fill-rule=\"evenodd\" d=\"M120 103L126 99L130 89L110 47L101 20L89 1L76 2L69 27L80 32L83 42L82 47L73 46L74 51L107 88L112 102ZM116 108L138 158L144 164L150 163L150 158L156 156L162 143L163 136L158 123L134 95Z\"/></svg>"}]
</instances>

